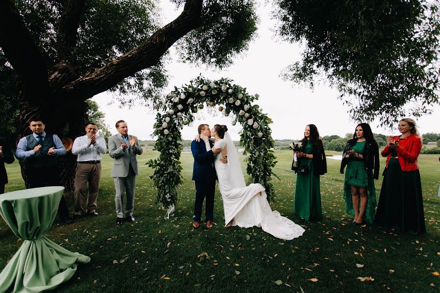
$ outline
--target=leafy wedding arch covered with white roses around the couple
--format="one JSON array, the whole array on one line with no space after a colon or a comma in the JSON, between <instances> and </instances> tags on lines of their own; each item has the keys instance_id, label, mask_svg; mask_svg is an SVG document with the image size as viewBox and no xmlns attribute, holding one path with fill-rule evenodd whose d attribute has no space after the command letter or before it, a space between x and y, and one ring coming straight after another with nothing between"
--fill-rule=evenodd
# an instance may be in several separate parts
<instances>
[{"instance_id":1,"label":"leafy wedding arch covered with white roses around the couple","mask_svg":"<svg viewBox=\"0 0 440 293\"><path fill-rule=\"evenodd\" d=\"M252 183L260 183L266 188L267 199L273 200L274 189L270 182L276 157L271 148L274 141L269 124L272 120L263 114L258 105L251 105L258 100L258 95L249 95L246 88L231 84L232 80L222 78L210 81L202 76L169 93L163 104L163 113L157 113L153 136L157 137L154 150L160 152L156 160L147 164L154 168L151 178L157 188L156 201L168 209L167 216L177 202L177 189L182 184L180 154L182 140L180 130L194 121L194 113L205 105L219 106L225 116L231 115L232 125L241 123L243 130L240 144L244 146L244 155L248 155L247 174L252 176Z\"/></svg>"}]
</instances>

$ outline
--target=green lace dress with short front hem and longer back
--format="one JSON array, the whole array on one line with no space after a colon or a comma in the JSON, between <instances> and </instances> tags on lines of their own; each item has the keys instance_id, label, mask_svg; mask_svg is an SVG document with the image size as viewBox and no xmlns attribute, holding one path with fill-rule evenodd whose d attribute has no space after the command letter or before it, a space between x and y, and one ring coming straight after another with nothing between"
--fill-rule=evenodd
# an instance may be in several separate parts
<instances>
[{"instance_id":1,"label":"green lace dress with short front hem and longer back","mask_svg":"<svg viewBox=\"0 0 440 293\"><path fill-rule=\"evenodd\" d=\"M356 153L362 154L366 141L356 143L351 147ZM345 171L344 181L344 200L345 211L354 216L354 208L352 202L352 188L350 186L366 187L368 203L365 210L364 222L373 224L374 209L376 208L376 190L374 189L373 171L367 171L362 160L349 160L347 170ZM360 205L360 204L359 204ZM360 206L359 206L360 209Z\"/></svg>"}]
</instances>

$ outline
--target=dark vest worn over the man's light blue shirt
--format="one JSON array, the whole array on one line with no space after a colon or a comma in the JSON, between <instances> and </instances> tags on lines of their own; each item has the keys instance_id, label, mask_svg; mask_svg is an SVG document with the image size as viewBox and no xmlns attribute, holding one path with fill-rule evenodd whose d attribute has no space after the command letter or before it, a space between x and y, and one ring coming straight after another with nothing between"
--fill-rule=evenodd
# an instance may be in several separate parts
<instances>
[{"instance_id":1,"label":"dark vest worn over the man's light blue shirt","mask_svg":"<svg viewBox=\"0 0 440 293\"><path fill-rule=\"evenodd\" d=\"M25 159L26 167L41 168L41 167L54 167L58 165L57 156L49 156L47 152L49 148L54 147L53 135L46 133L44 141L39 143L33 134L26 136L27 147L26 150L34 149L35 146L41 145L40 150L31 157Z\"/></svg>"}]
</instances>

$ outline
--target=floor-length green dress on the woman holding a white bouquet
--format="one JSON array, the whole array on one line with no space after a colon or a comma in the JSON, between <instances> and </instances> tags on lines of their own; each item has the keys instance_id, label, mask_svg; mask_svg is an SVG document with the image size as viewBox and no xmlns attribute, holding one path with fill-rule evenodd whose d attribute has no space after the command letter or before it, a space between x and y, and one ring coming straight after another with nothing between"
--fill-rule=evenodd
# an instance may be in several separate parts
<instances>
[{"instance_id":1,"label":"floor-length green dress on the woman holding a white bouquet","mask_svg":"<svg viewBox=\"0 0 440 293\"><path fill-rule=\"evenodd\" d=\"M305 146L304 152L313 153L310 143ZM306 221L322 219L321 190L319 175L313 175L312 159L298 160L299 167L308 166L308 174L298 173L296 176L295 200L293 211Z\"/></svg>"}]
</instances>

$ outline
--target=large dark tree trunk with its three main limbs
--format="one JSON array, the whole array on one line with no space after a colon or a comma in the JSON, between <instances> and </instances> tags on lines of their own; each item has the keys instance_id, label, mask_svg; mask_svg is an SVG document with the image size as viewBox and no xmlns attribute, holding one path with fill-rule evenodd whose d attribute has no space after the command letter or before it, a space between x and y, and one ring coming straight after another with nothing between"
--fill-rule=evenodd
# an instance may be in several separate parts
<instances>
[{"instance_id":1,"label":"large dark tree trunk with its three main limbs","mask_svg":"<svg viewBox=\"0 0 440 293\"><path fill-rule=\"evenodd\" d=\"M74 140L81 136L87 119L87 99L155 65L177 40L201 24L202 0L186 0L174 21L146 36L139 46L101 68L76 76L70 55L84 7L84 0L65 1L57 31L58 63L53 64L28 30L14 1L0 1L0 46L20 81L18 140L30 133L28 125L32 118L43 120L45 130L60 137ZM75 159L70 152L60 158L62 184L67 189L73 186Z\"/></svg>"}]
</instances>

